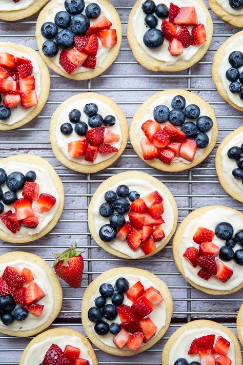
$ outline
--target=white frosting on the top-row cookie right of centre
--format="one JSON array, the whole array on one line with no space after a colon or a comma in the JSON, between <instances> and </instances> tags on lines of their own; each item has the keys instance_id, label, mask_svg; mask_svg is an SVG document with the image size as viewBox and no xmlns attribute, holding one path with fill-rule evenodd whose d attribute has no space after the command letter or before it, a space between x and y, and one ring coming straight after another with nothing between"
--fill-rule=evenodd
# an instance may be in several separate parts
<instances>
[{"instance_id":1,"label":"white frosting on the top-row cookie right of centre","mask_svg":"<svg viewBox=\"0 0 243 365\"><path fill-rule=\"evenodd\" d=\"M161 4L160 0L154 0L154 2L156 5ZM166 39L164 39L163 45L161 45L158 48L150 49L150 48L146 47L146 45L144 44L144 41L143 41L143 37L144 37L145 32L148 30L148 28L145 26L145 22L144 22L144 18L146 16L146 14L143 12L143 10L141 8L142 3L143 3L143 1L141 1L141 4L137 8L137 11L133 17L133 32L137 39L137 42L145 50L145 52L149 56L153 57L154 59L166 62L168 65L175 64L179 60L183 60L183 61L191 60L192 57L197 53L197 51L203 44L200 44L197 46L189 46L188 48L184 48L183 53L181 53L178 56L172 56L170 54L170 51L168 50L169 41ZM163 4L165 4L168 8L170 7L170 3L171 3L171 0L163 1ZM206 16L205 11L201 8L201 6L198 3L196 3L193 0L187 0L187 2L185 4L185 0L176 0L176 5L178 7L194 6L196 9L196 14L197 14L197 23L204 24L205 30L206 30L206 35L207 35L207 33L208 33L207 16ZM157 24L156 28L161 30L161 24L162 24L162 20L158 18L158 24ZM180 28L181 28L180 26L177 26L177 31ZM187 27L187 28L188 28L189 32L191 33L191 30L193 27Z\"/></svg>"}]
</instances>

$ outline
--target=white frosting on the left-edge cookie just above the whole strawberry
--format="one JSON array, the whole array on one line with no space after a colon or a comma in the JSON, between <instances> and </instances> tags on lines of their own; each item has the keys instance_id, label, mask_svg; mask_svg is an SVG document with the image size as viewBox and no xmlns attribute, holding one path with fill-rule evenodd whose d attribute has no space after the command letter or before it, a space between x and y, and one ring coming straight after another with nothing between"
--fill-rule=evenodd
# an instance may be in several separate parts
<instances>
[{"instance_id":1,"label":"white frosting on the left-edge cookie just above the whole strawberry","mask_svg":"<svg viewBox=\"0 0 243 365\"><path fill-rule=\"evenodd\" d=\"M22 172L22 174L26 175L26 172L33 170L36 173L36 180L35 182L39 184L39 195L40 194L50 194L54 198L56 198L56 202L54 206L49 210L49 212L44 213L36 213L35 215L38 217L39 224L36 228L27 228L23 224L21 225L21 229L17 231L15 234L13 234L6 225L0 220L0 229L2 229L6 234L13 236L13 237L25 237L25 236L32 236L39 232L42 232L43 229L46 228L46 226L49 224L49 222L53 219L58 206L59 206L59 196L57 194L55 185L53 181L51 180L51 177L48 173L48 171L40 166L37 165L31 165L26 163L17 163L17 162L9 162L6 165L1 165L1 168L4 168L7 172L7 175L11 174L11 172L19 171ZM3 193L5 191L9 191L9 188L6 183L4 183L2 186ZM17 191L17 196L19 198L23 198L22 196L22 190ZM3 202L2 202L3 203ZM3 203L4 204L4 203ZM12 213L15 213L15 209L13 208L13 204L5 205L4 204L4 212L7 212L8 210L12 210Z\"/></svg>"}]
</instances>

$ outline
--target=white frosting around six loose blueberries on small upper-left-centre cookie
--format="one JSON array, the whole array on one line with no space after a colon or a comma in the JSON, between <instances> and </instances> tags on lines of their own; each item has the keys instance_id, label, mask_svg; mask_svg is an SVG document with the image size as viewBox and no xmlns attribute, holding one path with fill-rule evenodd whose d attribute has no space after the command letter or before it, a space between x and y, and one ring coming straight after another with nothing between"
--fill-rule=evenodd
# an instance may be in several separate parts
<instances>
[{"instance_id":1,"label":"white frosting around six loose blueberries on small upper-left-centre cookie","mask_svg":"<svg viewBox=\"0 0 243 365\"><path fill-rule=\"evenodd\" d=\"M80 120L82 122L85 122L88 125L88 119L89 117L85 114L85 112L83 111L84 107L86 104L89 103L94 103L98 106L98 114L100 114L103 118L105 118L108 115L112 115L115 117L116 122L112 127L106 127L105 133L107 130L111 130L113 133L115 133L116 135L120 136L119 141L112 143L113 147L116 147L118 150L120 148L120 145L122 144L122 131L120 130L120 124L119 124L119 120L118 117L116 116L116 114L114 113L113 109L105 104L104 102L100 101L99 99L80 99L77 100L76 102L68 105L66 108L64 108L62 110L62 112L60 112L57 123L56 123L56 143L59 147L59 149L64 153L64 155L71 161L74 161L76 163L80 163L83 165L95 165L99 162L105 161L110 159L113 155L115 155L115 153L99 153L96 157L96 159L94 160L94 162L89 162L85 160L85 156L80 156L80 157L70 157L69 153L68 153L68 143L70 142L74 142L74 141L79 141L81 139L85 139L85 136L78 136L75 131L74 131L74 124L72 124L73 127L73 132L71 133L71 135L69 136L65 136L61 133L60 131L60 126L63 123L69 122L68 119L68 114L70 113L70 111L72 109L78 109L81 112L81 118ZM91 129L91 127L88 125L88 129Z\"/></svg>"}]
</instances>

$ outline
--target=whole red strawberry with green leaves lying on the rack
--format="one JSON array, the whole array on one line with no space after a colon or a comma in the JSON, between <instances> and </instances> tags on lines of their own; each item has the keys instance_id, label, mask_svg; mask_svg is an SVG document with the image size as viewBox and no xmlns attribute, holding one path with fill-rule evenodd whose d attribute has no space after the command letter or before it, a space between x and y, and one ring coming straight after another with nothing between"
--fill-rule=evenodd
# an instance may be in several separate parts
<instances>
[{"instance_id":1,"label":"whole red strawberry with green leaves lying on the rack","mask_svg":"<svg viewBox=\"0 0 243 365\"><path fill-rule=\"evenodd\" d=\"M59 278L71 287L79 287L82 283L84 259L82 252L76 251L77 245L66 249L62 254L53 254L56 257L53 267Z\"/></svg>"}]
</instances>

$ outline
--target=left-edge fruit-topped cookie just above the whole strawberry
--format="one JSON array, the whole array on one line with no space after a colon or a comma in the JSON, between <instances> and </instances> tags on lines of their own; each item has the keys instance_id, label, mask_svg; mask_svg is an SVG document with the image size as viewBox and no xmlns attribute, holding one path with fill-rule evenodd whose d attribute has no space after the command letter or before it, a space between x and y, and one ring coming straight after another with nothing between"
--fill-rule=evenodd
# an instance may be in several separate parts
<instances>
[{"instance_id":1,"label":"left-edge fruit-topped cookie just above the whole strawberry","mask_svg":"<svg viewBox=\"0 0 243 365\"><path fill-rule=\"evenodd\" d=\"M16 155L0 160L0 239L26 243L56 225L64 206L64 188L42 157Z\"/></svg>"}]
</instances>

